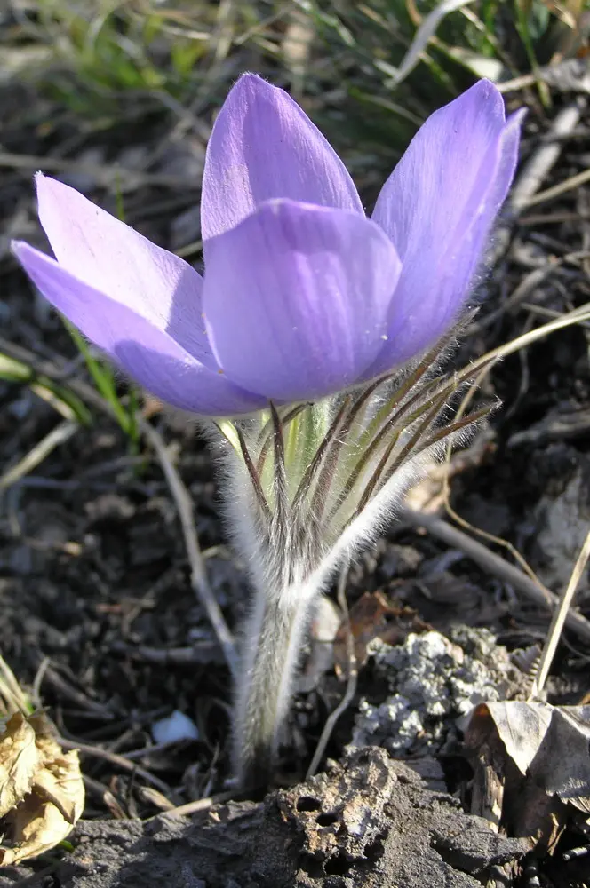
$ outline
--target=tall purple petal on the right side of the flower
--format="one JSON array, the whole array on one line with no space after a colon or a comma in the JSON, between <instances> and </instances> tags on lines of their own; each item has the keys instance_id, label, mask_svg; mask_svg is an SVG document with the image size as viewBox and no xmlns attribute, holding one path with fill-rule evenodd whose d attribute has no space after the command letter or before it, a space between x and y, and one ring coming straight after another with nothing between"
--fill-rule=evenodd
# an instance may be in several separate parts
<instances>
[{"instance_id":1,"label":"tall purple petal on the right side of the flower","mask_svg":"<svg viewBox=\"0 0 590 888\"><path fill-rule=\"evenodd\" d=\"M371 373L431 345L460 313L514 176L521 121L506 122L500 93L480 81L428 118L387 179L372 218L402 274Z\"/></svg>"}]
</instances>

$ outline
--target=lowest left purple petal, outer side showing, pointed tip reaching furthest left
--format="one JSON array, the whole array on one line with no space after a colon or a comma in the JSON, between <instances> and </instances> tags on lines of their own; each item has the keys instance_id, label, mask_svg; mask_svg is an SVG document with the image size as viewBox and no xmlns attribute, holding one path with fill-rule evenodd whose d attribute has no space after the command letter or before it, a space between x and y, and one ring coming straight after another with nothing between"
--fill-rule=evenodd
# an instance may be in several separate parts
<instances>
[{"instance_id":1,"label":"lowest left purple petal, outer side showing, pointed tip reaching furthest left","mask_svg":"<svg viewBox=\"0 0 590 888\"><path fill-rule=\"evenodd\" d=\"M242 392L220 371L203 367L166 332L79 280L55 259L21 241L12 242L12 249L44 297L158 398L208 416L264 406L263 399Z\"/></svg>"}]
</instances>

